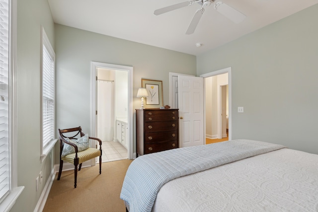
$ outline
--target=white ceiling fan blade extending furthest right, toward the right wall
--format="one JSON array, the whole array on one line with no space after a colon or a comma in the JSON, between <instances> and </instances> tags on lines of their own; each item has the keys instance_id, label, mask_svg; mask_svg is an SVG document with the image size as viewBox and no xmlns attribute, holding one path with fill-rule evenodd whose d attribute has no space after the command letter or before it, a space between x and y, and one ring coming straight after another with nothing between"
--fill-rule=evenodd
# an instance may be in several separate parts
<instances>
[{"instance_id":1,"label":"white ceiling fan blade extending furthest right, toward the right wall","mask_svg":"<svg viewBox=\"0 0 318 212\"><path fill-rule=\"evenodd\" d=\"M246 18L244 14L240 13L233 7L223 3L222 1L217 2L214 5L214 9L219 11L222 15L226 16L230 20L232 20L234 23L240 23Z\"/></svg>"}]
</instances>

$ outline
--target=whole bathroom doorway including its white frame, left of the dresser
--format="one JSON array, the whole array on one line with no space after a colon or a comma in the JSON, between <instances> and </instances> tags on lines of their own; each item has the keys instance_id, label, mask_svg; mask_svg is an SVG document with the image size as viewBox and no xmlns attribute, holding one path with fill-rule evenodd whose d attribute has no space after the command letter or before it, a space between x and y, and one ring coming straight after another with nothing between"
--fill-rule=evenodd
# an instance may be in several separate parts
<instances>
[{"instance_id":1,"label":"whole bathroom doorway including its white frame, left of the dresser","mask_svg":"<svg viewBox=\"0 0 318 212\"><path fill-rule=\"evenodd\" d=\"M132 81L133 67L91 62L91 135L103 162L133 158Z\"/></svg>"}]
</instances>

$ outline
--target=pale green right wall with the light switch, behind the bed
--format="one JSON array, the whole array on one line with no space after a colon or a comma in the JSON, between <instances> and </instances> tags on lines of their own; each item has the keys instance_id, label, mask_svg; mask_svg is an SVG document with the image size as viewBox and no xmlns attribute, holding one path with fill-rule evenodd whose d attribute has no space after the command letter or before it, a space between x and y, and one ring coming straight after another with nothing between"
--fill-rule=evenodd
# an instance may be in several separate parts
<instances>
[{"instance_id":1,"label":"pale green right wall with the light switch, behind the bed","mask_svg":"<svg viewBox=\"0 0 318 212\"><path fill-rule=\"evenodd\" d=\"M197 75L232 67L233 139L318 153L317 20L318 4L197 56Z\"/></svg>"}]
</instances>

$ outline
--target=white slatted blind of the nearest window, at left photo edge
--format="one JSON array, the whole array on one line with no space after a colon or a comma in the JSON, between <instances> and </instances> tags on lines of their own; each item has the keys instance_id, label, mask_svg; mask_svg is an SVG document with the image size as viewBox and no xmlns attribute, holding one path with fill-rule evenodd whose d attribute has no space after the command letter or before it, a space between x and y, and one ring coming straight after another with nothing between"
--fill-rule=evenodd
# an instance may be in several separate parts
<instances>
[{"instance_id":1,"label":"white slatted blind of the nearest window, at left photo edge","mask_svg":"<svg viewBox=\"0 0 318 212\"><path fill-rule=\"evenodd\" d=\"M9 1L0 0L0 202L9 193Z\"/></svg>"}]
</instances>

